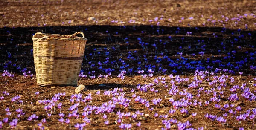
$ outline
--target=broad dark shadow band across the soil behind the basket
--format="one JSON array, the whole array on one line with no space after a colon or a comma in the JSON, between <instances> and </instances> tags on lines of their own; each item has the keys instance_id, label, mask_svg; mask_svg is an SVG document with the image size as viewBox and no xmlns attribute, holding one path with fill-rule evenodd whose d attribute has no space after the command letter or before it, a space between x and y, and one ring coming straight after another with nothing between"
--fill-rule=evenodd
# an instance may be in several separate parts
<instances>
[{"instance_id":1,"label":"broad dark shadow band across the soil behind the basket","mask_svg":"<svg viewBox=\"0 0 256 130\"><path fill-rule=\"evenodd\" d=\"M88 64L90 61L98 65L98 62L106 61L105 52L109 52L109 61L120 58L128 59L133 57L139 59L143 64L157 65L155 56L157 58L168 56L170 60L177 61L180 58L177 55L178 52L182 52L185 58L188 58L188 62L201 61L206 65L207 58L210 60L221 60L223 57L227 57L229 52L236 51L231 61L223 61L220 64L227 64L228 62L236 62L244 60L246 55L245 51L253 52L251 48L256 37L250 37L256 35L255 31L244 30L230 30L221 27L168 27L168 26L51 26L51 27L29 27L29 28L1 28L0 29L0 72L5 70L4 66L8 62L16 64L21 68L27 67L35 73L35 67L33 63L33 46L32 35L36 32L52 33L52 34L73 34L75 32L84 32L88 42L85 50L85 58L83 61L82 69L90 69ZM187 35L187 32L192 32L192 35ZM233 34L232 34L233 33ZM243 36L241 37L242 34ZM154 46L156 45L156 47ZM237 46L237 47L235 47ZM94 49L97 50L94 50ZM247 48L247 49L242 49ZM134 53L134 51L137 51ZM133 52L132 56L129 56L128 52ZM203 56L201 52L204 51ZM101 55L97 55L100 53ZM8 58L8 54L11 55ZM188 55L195 54L194 58L189 58ZM90 56L92 55L92 56ZM144 56L147 58L144 58ZM138 61L127 60L129 68L133 67L137 69ZM169 62L161 61L162 68L167 69L169 73L175 67L170 67ZM254 63L249 63L254 64ZM209 64L210 65L210 64ZM9 67L10 71L17 72L16 67ZM111 64L102 64L104 68L116 68L117 66L111 66ZM219 64L212 64L214 68L220 67ZM207 67L207 66L205 66ZM224 66L223 68L226 68ZM233 68L234 69L234 68ZM177 69L178 70L178 69ZM90 70L91 71L91 70ZM247 65L243 72L249 72L250 68ZM179 71L178 71L179 73ZM96 74L99 74L96 72ZM118 72L113 72L117 75Z\"/></svg>"}]
</instances>

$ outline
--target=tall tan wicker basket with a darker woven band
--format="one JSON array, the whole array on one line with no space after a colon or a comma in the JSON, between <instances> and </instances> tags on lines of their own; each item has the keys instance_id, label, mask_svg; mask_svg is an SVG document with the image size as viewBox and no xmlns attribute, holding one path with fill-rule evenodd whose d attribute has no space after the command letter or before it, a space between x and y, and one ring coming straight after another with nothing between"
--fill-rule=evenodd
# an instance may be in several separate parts
<instances>
[{"instance_id":1,"label":"tall tan wicker basket with a darker woven band","mask_svg":"<svg viewBox=\"0 0 256 130\"><path fill-rule=\"evenodd\" d=\"M77 37L77 34L83 37ZM33 35L37 84L40 86L76 86L87 38L83 32L73 35Z\"/></svg>"}]
</instances>

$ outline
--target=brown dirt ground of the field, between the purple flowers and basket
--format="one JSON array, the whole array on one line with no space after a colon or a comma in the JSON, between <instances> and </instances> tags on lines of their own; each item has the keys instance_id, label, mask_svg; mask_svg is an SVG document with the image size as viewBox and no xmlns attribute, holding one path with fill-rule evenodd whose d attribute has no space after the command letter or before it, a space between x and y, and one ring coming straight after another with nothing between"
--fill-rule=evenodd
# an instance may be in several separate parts
<instances>
[{"instance_id":1,"label":"brown dirt ground of the field, between the purple flowers and basket","mask_svg":"<svg viewBox=\"0 0 256 130\"><path fill-rule=\"evenodd\" d=\"M247 113L248 109L256 108L255 100L249 101L243 98L244 91L240 89L236 91L239 101L229 101L228 98L232 94L230 88L233 85L241 86L247 83L246 87L250 88L250 92L255 94L256 91L253 86L256 82L253 80L256 77L256 69L250 67L256 66L255 5L256 0L0 0L0 74L3 74L4 70L14 74L13 78L0 76L0 96L5 97L0 101L0 121L6 117L12 121L17 118L15 110L22 108L26 114L19 119L17 127L14 128L16 130L33 130L34 128L38 130L38 123L43 118L47 120L47 124L44 124L46 130L69 129L68 124L61 124L58 121L60 112L57 108L56 112L53 112L52 116L48 118L44 104L36 102L51 99L56 93L65 92L66 96L62 97L60 101L62 102L62 113L65 113L65 118L67 118L68 108L72 105L69 101L70 96L75 93L76 87L40 87L36 84L31 39L36 32L73 34L82 31L88 38L81 68L87 78L79 78L78 85L84 84L87 91L82 94L86 96L91 93L93 100L86 104L80 104L78 107L80 118L70 118L71 129L76 129L74 127L76 123L83 122L81 112L85 106L101 106L102 103L112 100L112 96L103 93L117 87L123 88L125 98L131 99L129 107L116 104L114 112L107 113L108 125L104 124L105 120L102 118L102 114L92 114L88 116L91 120L90 124L87 124L84 129L120 129L120 124L115 122L118 119L116 112L120 110L124 113L135 113L139 110L144 113L144 116L138 116L136 120L131 117L122 118L122 123L132 124L132 130L161 130L162 127L165 128L162 123L164 118L154 117L154 113L158 113L159 115L169 115L167 119L177 119L178 122L189 121L192 126L187 128L239 130L244 127L244 130L254 130L256 129L253 127L254 119L247 118L239 122L236 120L236 116ZM88 20L88 17L94 17L95 20ZM192 34L188 35L188 32L192 32ZM157 45L157 48L154 44ZM105 55L105 52L109 52L109 55ZM128 58L131 57L129 52L135 60ZM222 116L229 112L216 109L215 102L205 106L204 102L210 100L212 93L202 92L201 96L197 97L198 88L187 89L193 81L195 68L186 69L186 65L180 62L181 56L178 52L182 52L182 57L187 58L186 62L191 65L193 61L197 61L198 66L195 65L195 68L201 67L204 71L213 72L216 68L234 70L235 74L232 72L215 73L219 77L225 74L229 75L229 78L231 76L235 78L234 83L228 79L225 83L226 87L221 90L210 86L207 81L203 81L200 87L204 87L204 90L215 88L216 92L224 91L223 95L218 94L220 102L217 104L222 107L224 104L234 104L233 110L236 110L238 106L241 106L242 110L234 116L231 114L227 116L227 121L224 124L205 118L206 113ZM201 55L201 52L204 54ZM11 56L8 57L8 54ZM160 63L156 62L155 56L162 58ZM170 61L163 59L164 56L179 63L178 66L181 67L170 66ZM228 56L231 57L227 58ZM109 58L110 62L116 61L116 64L103 64L106 58ZM149 64L157 67L152 78L143 79L140 74L133 72L121 80L117 77L120 73L119 66L122 66L120 58L129 65L127 69L133 68L133 71ZM208 58L211 62L207 62ZM99 61L102 63L102 68L115 69L108 79L97 77L91 79L90 74L87 74L95 71L94 75L96 76L106 75L105 71L98 68ZM218 61L221 62L218 63ZM243 61L241 66L239 66L239 61ZM95 66L92 67L89 62ZM234 66L228 66L228 63ZM159 66L167 69L166 75L162 70L158 71ZM212 69L207 69L207 66L212 66ZM239 69L236 69L236 66L239 66ZM32 78L24 78L22 69L25 67L33 74ZM177 73L174 73L173 70L176 70ZM239 75L239 72L243 72L243 74ZM169 110L174 109L174 106L168 100L173 98L176 101L186 97L179 94L175 96L168 94L171 87L169 75L172 73L180 75L181 78L189 78L189 81L183 82L183 84L175 84L180 92L187 89L192 93L193 99L201 101L202 106L186 107L189 114L180 113L181 108L176 113L169 114ZM159 90L157 93L150 90L142 92L136 89L138 84L152 83L155 78L160 76L166 77L166 83L169 84L168 89L163 87L163 84L154 85L154 90ZM206 78L210 78L210 81L213 80L212 75L207 75ZM150 103L154 107L154 110L151 111L144 104L134 101L132 98L134 92L131 92L131 89L135 89L137 96L150 102L154 98L161 98L162 101L157 107ZM5 96L2 91L7 91L10 95ZM39 91L39 95L35 95L37 91ZM97 95L97 91L100 91L101 95ZM23 104L11 102L11 98L16 95L21 96ZM191 102L193 103L193 100ZM11 116L6 116L5 109L7 107L12 112ZM197 116L193 117L192 113L197 113ZM28 121L27 118L32 114L39 116L38 119ZM145 116L145 114L149 114L149 116ZM136 126L138 121L141 122L140 127ZM3 123L2 129L10 128L9 123ZM172 124L171 129L178 129L177 124Z\"/></svg>"}]
</instances>

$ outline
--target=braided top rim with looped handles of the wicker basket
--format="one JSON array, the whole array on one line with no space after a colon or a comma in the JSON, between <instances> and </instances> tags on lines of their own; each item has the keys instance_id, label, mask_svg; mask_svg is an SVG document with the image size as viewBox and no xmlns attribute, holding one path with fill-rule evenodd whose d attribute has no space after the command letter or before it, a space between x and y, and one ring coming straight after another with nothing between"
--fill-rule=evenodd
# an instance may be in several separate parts
<instances>
[{"instance_id":1,"label":"braided top rim with looped handles of the wicker basket","mask_svg":"<svg viewBox=\"0 0 256 130\"><path fill-rule=\"evenodd\" d=\"M77 34L83 35L83 37L76 36ZM87 42L88 39L84 37L83 32L76 32L72 35L60 35L60 34L49 34L49 33L41 33L37 32L32 37L33 41L83 41Z\"/></svg>"}]
</instances>

